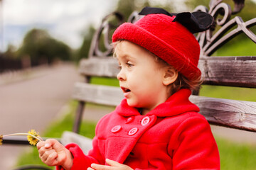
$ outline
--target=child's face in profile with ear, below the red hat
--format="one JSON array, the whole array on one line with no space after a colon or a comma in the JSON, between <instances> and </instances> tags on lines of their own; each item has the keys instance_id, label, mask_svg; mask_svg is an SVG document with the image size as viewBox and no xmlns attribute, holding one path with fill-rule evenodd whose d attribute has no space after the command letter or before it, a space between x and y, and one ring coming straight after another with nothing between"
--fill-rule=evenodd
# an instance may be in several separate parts
<instances>
[{"instance_id":1,"label":"child's face in profile with ear, below the red hat","mask_svg":"<svg viewBox=\"0 0 256 170\"><path fill-rule=\"evenodd\" d=\"M132 42L119 42L116 48L120 66L117 79L129 106L151 111L164 103L169 97L163 83L166 67L157 63L150 52Z\"/></svg>"}]
</instances>

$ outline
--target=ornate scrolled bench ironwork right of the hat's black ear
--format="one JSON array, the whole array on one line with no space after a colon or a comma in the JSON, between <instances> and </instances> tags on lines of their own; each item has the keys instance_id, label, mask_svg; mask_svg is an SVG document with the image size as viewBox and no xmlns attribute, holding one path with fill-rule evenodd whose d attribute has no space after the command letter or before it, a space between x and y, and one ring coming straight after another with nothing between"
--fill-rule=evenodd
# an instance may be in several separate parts
<instances>
[{"instance_id":1,"label":"ornate scrolled bench ironwork right of the hat's black ear","mask_svg":"<svg viewBox=\"0 0 256 170\"><path fill-rule=\"evenodd\" d=\"M210 13L210 15L215 19L215 26L220 26L220 29L216 31L216 33L214 33L215 27L213 27L203 33L198 33L196 36L202 48L201 55L212 55L219 47L235 38L235 36L240 33L245 33L248 38L256 43L256 35L250 30L250 27L256 25L256 18L252 18L250 21L244 22L240 16L235 16L235 18L230 20L231 16L239 13L245 5L244 0L233 1L235 3L233 11L230 6L223 3L222 0L211 0L209 10L206 6L197 6L195 8L194 11ZM237 28L233 28L234 26L237 26Z\"/></svg>"}]
</instances>

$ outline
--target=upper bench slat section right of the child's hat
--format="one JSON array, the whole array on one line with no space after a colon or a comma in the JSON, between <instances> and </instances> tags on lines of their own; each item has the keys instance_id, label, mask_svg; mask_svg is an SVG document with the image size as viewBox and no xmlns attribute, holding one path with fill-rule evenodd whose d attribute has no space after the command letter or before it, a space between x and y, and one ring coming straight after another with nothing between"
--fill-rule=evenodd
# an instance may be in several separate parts
<instances>
[{"instance_id":1,"label":"upper bench slat section right of the child's hat","mask_svg":"<svg viewBox=\"0 0 256 170\"><path fill-rule=\"evenodd\" d=\"M256 57L202 57L203 84L256 88Z\"/></svg>"}]
</instances>

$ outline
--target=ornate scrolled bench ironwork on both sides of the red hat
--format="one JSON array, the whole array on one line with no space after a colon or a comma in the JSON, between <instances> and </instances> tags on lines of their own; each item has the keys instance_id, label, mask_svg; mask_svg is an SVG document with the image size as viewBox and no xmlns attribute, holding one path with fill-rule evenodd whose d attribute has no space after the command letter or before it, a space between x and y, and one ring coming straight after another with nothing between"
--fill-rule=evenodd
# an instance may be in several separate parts
<instances>
[{"instance_id":1,"label":"ornate scrolled bench ironwork on both sides of the red hat","mask_svg":"<svg viewBox=\"0 0 256 170\"><path fill-rule=\"evenodd\" d=\"M215 19L215 26L206 30L205 32L198 33L196 39L201 45L201 55L210 56L224 45L229 40L235 38L240 33L245 33L253 42L256 43L256 35L250 30L250 27L256 25L256 18L252 18L250 21L242 21L240 16L230 19L233 14L239 13L245 5L245 0L233 0L235 6L233 11L231 7L223 3L223 0L211 0L209 9L206 6L197 6L194 11L204 11L210 13ZM110 23L110 18L117 18L117 24ZM134 12L129 16L127 22L134 23L140 17L137 12ZM100 28L95 33L90 47L90 57L107 57L112 55L111 31L117 28L123 23L123 17L120 13L111 13L102 20ZM215 30L216 26L220 26L219 30ZM234 28L237 26L237 28ZM101 44L100 44L101 43ZM102 47L100 48L100 45Z\"/></svg>"}]
</instances>

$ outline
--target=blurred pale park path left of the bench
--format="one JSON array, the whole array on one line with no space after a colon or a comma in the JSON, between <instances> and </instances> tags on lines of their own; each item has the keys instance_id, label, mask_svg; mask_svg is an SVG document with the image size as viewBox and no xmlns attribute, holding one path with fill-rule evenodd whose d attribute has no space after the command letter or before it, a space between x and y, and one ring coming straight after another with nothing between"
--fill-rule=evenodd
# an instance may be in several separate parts
<instances>
[{"instance_id":1,"label":"blurred pale park path left of the bench","mask_svg":"<svg viewBox=\"0 0 256 170\"><path fill-rule=\"evenodd\" d=\"M75 81L81 77L69 63L0 74L0 134L32 128L41 134L70 100ZM1 146L0 169L11 170L26 147Z\"/></svg>"}]
</instances>

